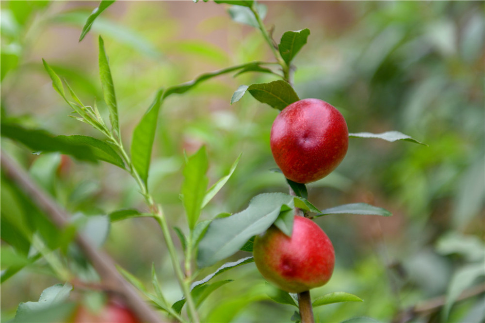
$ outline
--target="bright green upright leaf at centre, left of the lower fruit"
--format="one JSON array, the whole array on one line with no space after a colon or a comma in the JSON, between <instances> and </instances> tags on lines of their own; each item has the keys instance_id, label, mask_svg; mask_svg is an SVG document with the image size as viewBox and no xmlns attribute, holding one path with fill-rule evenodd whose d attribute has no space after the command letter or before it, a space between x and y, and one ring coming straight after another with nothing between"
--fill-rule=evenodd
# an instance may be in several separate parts
<instances>
[{"instance_id":1,"label":"bright green upright leaf at centre, left of the lower fruit","mask_svg":"<svg viewBox=\"0 0 485 323\"><path fill-rule=\"evenodd\" d=\"M205 146L202 146L193 156L189 157L183 169L181 198L187 213L187 221L191 230L199 219L202 201L206 195L209 178L206 176L209 162Z\"/></svg>"}]
</instances>

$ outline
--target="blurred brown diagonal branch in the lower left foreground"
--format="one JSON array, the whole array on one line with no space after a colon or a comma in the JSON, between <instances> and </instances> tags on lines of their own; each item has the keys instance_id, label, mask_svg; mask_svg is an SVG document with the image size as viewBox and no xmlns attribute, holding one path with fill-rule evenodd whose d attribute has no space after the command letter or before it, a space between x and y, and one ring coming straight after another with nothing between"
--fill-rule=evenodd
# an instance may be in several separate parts
<instances>
[{"instance_id":1,"label":"blurred brown diagonal branch in the lower left foreground","mask_svg":"<svg viewBox=\"0 0 485 323\"><path fill-rule=\"evenodd\" d=\"M43 210L49 219L63 229L68 223L68 214L49 195L45 194L30 176L21 169L4 151L0 155L1 168L32 201ZM101 250L95 248L82 235L76 234L75 241L88 258L103 284L124 298L127 305L142 322L160 322L158 314L140 297L134 287L117 271L113 259Z\"/></svg>"}]
</instances>

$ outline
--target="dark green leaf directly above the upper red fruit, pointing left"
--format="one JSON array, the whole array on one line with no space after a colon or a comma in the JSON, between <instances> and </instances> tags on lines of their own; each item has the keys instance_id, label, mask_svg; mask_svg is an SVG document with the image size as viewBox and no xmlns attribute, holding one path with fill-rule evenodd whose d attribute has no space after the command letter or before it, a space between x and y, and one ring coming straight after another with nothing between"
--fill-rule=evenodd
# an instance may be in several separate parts
<instances>
[{"instance_id":1,"label":"dark green leaf directly above the upper red fruit, pointing left","mask_svg":"<svg viewBox=\"0 0 485 323\"><path fill-rule=\"evenodd\" d=\"M283 110L289 104L300 100L291 85L283 80L252 84L247 90L259 102L269 104L278 110Z\"/></svg>"}]
</instances>

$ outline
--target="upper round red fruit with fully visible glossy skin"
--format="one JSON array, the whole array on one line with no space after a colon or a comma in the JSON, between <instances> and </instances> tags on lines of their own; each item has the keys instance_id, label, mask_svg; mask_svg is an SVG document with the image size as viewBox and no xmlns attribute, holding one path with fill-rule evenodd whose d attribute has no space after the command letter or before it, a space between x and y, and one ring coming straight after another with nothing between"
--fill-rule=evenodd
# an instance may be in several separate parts
<instances>
[{"instance_id":1,"label":"upper round red fruit with fully visible glossy skin","mask_svg":"<svg viewBox=\"0 0 485 323\"><path fill-rule=\"evenodd\" d=\"M324 178L345 157L349 130L342 114L319 99L291 103L271 128L271 152L286 178L309 183Z\"/></svg>"}]
</instances>

